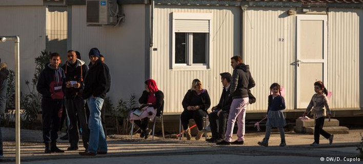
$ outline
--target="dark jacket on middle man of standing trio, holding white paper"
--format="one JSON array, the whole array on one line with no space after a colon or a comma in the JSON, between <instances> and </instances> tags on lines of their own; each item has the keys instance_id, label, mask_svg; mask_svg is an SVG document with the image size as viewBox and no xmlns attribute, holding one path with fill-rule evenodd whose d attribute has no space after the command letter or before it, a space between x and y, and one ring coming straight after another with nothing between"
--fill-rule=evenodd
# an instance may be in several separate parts
<instances>
[{"instance_id":1,"label":"dark jacket on middle man of standing trio, holding white paper","mask_svg":"<svg viewBox=\"0 0 363 164\"><path fill-rule=\"evenodd\" d=\"M84 88L84 80L88 73L88 67L85 65L85 61L77 59L74 65L71 65L68 61L63 65L64 73L66 74L65 82L67 81L77 81L80 83L80 88L67 88L66 83L63 87L65 88L66 99L74 99L76 96L82 94Z\"/></svg>"}]
</instances>

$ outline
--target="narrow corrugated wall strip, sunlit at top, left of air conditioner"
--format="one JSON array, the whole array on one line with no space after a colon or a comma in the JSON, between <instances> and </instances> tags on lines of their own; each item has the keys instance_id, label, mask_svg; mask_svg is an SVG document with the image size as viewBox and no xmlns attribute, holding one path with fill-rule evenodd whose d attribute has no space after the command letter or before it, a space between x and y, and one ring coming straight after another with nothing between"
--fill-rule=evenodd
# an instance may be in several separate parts
<instances>
[{"instance_id":1,"label":"narrow corrugated wall strip, sunlit at top, left of air conditioner","mask_svg":"<svg viewBox=\"0 0 363 164\"><path fill-rule=\"evenodd\" d=\"M67 6L48 6L46 17L46 49L60 53L66 59L67 52Z\"/></svg>"}]
</instances>

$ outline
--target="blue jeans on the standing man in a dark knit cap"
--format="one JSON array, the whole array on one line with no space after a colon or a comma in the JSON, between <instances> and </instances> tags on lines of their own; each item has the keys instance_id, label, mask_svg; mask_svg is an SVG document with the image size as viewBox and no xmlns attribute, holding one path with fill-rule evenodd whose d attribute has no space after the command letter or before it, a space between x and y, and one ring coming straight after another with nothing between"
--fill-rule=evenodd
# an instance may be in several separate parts
<instances>
[{"instance_id":1,"label":"blue jeans on the standing man in a dark knit cap","mask_svg":"<svg viewBox=\"0 0 363 164\"><path fill-rule=\"evenodd\" d=\"M100 97L90 97L87 99L90 117L88 127L90 129L90 139L87 151L91 153L107 152L107 142L104 129L101 123L101 109L104 99Z\"/></svg>"}]
</instances>

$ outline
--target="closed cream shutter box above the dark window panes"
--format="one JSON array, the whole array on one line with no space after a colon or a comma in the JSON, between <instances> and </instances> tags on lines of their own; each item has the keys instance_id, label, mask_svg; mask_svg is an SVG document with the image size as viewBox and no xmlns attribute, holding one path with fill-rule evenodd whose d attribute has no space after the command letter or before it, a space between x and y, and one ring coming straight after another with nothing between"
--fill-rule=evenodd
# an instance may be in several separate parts
<instances>
[{"instance_id":1,"label":"closed cream shutter box above the dark window panes","mask_svg":"<svg viewBox=\"0 0 363 164\"><path fill-rule=\"evenodd\" d=\"M175 32L209 33L209 20L175 19Z\"/></svg>"}]
</instances>

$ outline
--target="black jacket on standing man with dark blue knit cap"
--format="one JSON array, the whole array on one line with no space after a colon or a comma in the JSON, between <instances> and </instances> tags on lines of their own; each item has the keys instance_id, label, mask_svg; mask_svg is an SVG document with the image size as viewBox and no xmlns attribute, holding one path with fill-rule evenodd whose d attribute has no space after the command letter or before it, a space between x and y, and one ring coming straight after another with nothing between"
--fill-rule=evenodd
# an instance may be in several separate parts
<instances>
[{"instance_id":1,"label":"black jacket on standing man with dark blue knit cap","mask_svg":"<svg viewBox=\"0 0 363 164\"><path fill-rule=\"evenodd\" d=\"M87 99L93 95L105 98L111 86L110 71L107 65L98 59L94 65L90 63L89 68L82 97Z\"/></svg>"}]
</instances>

